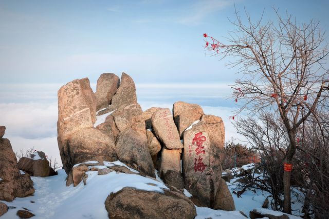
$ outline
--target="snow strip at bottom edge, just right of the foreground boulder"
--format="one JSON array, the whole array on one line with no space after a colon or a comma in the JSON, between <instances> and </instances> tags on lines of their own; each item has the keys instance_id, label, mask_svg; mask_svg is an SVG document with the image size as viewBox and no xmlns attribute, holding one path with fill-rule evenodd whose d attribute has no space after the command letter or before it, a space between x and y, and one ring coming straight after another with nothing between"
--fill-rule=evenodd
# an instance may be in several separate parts
<instances>
[{"instance_id":1,"label":"snow strip at bottom edge, just right of the foreground boulder","mask_svg":"<svg viewBox=\"0 0 329 219\"><path fill-rule=\"evenodd\" d=\"M211 208L197 207L197 216L195 219L205 219L205 218L220 218L220 219L246 219L239 211L223 211L223 210L213 210Z\"/></svg>"}]
</instances>

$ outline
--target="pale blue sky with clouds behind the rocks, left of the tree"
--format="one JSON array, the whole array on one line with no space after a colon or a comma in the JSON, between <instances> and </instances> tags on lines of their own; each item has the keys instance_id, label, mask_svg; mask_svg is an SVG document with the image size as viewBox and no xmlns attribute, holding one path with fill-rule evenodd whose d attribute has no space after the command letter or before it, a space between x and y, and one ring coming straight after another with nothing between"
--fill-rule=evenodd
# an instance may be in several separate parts
<instances>
[{"instance_id":1,"label":"pale blue sky with clouds behind the rocks, left of the tree","mask_svg":"<svg viewBox=\"0 0 329 219\"><path fill-rule=\"evenodd\" d=\"M57 91L101 73L131 75L143 110L196 103L221 116L226 139L237 137L227 98L237 77L205 54L203 33L225 40L234 7L275 21L272 7L328 30L328 1L3 1L0 0L0 125L14 150L34 146L59 157ZM243 21L246 19L242 16Z\"/></svg>"}]
</instances>

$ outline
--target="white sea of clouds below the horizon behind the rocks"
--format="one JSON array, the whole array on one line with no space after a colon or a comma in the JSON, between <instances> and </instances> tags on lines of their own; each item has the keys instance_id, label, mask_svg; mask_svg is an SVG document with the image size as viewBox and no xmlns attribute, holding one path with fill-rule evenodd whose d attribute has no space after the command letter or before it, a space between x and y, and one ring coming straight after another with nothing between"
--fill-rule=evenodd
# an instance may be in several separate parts
<instances>
[{"instance_id":1,"label":"white sea of clouds below the horizon behind the rocks","mask_svg":"<svg viewBox=\"0 0 329 219\"><path fill-rule=\"evenodd\" d=\"M96 84L92 83L96 90ZM6 126L4 137L13 150L34 147L61 163L57 144L57 91L60 84L6 84L0 88L0 125ZM172 109L173 103L185 101L202 106L206 114L221 116L226 140L239 138L229 116L236 109L228 98L227 84L136 84L138 103L143 110L150 107Z\"/></svg>"}]
</instances>

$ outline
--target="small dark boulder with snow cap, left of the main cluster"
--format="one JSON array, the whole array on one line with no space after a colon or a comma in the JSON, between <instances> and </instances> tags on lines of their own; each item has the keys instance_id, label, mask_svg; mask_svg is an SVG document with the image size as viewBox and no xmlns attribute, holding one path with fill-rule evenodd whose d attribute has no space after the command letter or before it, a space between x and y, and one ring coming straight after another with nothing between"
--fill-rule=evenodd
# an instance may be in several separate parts
<instances>
[{"instance_id":1,"label":"small dark boulder with snow cap, left of the main cluster","mask_svg":"<svg viewBox=\"0 0 329 219\"><path fill-rule=\"evenodd\" d=\"M46 177L50 175L49 162L42 151L34 152L31 154L31 158L22 157L19 163L17 163L17 167L31 176Z\"/></svg>"}]
</instances>

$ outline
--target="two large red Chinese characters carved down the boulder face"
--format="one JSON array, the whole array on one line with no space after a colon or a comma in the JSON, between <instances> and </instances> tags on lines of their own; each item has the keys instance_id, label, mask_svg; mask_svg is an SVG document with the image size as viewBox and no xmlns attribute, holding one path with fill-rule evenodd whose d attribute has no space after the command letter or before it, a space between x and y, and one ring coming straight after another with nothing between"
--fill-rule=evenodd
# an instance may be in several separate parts
<instances>
[{"instance_id":1,"label":"two large red Chinese characters carved down the boulder face","mask_svg":"<svg viewBox=\"0 0 329 219\"><path fill-rule=\"evenodd\" d=\"M202 135L202 132L198 132L194 135L192 140L192 145L196 145L195 152L196 155L205 154L205 147L203 146L206 141L206 136ZM199 155L198 158L194 158L194 172L203 172L206 169L207 165L204 164L203 158Z\"/></svg>"}]
</instances>

